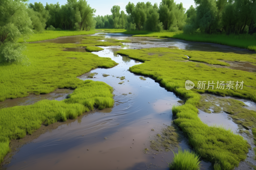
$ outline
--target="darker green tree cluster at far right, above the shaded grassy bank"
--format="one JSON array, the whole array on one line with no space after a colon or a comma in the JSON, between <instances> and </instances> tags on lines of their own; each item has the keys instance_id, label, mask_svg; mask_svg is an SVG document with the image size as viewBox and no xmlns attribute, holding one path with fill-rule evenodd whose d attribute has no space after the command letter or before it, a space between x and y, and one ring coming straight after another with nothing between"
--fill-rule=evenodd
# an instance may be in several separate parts
<instances>
[{"instance_id":1,"label":"darker green tree cluster at far right, above the shaded grassy bank","mask_svg":"<svg viewBox=\"0 0 256 170\"><path fill-rule=\"evenodd\" d=\"M255 0L195 0L188 9L185 33L256 32Z\"/></svg>"}]
</instances>

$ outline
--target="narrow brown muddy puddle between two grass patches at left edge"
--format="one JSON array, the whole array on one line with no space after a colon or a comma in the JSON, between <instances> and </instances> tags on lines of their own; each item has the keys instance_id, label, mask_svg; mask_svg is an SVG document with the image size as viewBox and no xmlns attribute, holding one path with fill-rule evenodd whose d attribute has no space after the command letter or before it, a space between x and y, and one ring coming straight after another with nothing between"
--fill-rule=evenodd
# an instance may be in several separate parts
<instances>
[{"instance_id":1,"label":"narrow brown muddy puddle between two grass patches at left edge","mask_svg":"<svg viewBox=\"0 0 256 170\"><path fill-rule=\"evenodd\" d=\"M67 95L72 93L73 91L74 90L71 90L71 89L56 89L55 91L48 94L40 94L40 95L31 94L23 98L7 99L0 102L0 108L30 105L44 99L60 101L60 100L66 99Z\"/></svg>"}]
</instances>

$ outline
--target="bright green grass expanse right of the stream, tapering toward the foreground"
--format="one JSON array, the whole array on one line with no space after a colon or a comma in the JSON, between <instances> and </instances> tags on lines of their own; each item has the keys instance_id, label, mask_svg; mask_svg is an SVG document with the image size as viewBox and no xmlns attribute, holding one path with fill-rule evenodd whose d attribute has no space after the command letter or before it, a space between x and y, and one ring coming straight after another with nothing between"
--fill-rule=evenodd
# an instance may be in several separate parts
<instances>
[{"instance_id":1,"label":"bright green grass expanse right of the stream, tapering toward the foreground","mask_svg":"<svg viewBox=\"0 0 256 170\"><path fill-rule=\"evenodd\" d=\"M200 156L211 161L215 169L231 170L246 158L248 145L243 137L234 134L223 127L208 126L204 124L197 113L201 95L208 92L221 96L236 96L256 102L256 73L227 68L216 68L204 63L184 62L188 58L184 55L198 57L207 62L223 60L255 61L255 55L238 55L234 53L186 51L172 48L147 48L140 50L120 50L120 55L144 62L130 67L136 74L150 76L161 83L169 91L175 92L186 100L182 106L172 109L176 116L174 123L178 125L189 139L189 143ZM149 55L150 54L150 55ZM199 57L200 56L200 57ZM185 89L185 81L244 81L243 90L207 90ZM216 86L215 86L216 88ZM244 120L240 120L243 122ZM256 126L254 123L253 126Z\"/></svg>"}]
</instances>

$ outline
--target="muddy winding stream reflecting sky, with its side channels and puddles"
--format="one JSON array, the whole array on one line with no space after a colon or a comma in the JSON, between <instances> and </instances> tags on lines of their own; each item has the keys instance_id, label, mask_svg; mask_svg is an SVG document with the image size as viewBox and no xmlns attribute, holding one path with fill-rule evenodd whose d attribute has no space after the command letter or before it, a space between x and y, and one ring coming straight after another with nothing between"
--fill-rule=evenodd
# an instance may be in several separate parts
<instances>
[{"instance_id":1,"label":"muddy winding stream reflecting sky, with its side channels and puddles","mask_svg":"<svg viewBox=\"0 0 256 170\"><path fill-rule=\"evenodd\" d=\"M121 48L140 49L175 46L186 50L251 53L248 50L218 44L131 37L120 33L108 33L106 38L130 39L132 42L123 43L124 47L101 47L104 50L93 52L101 57L110 57L119 64L109 69L97 68L77 78L103 81L112 86L115 95L114 107L103 110L96 109L79 116L76 120L59 123L57 128L49 129L28 144L17 147L16 154L11 156L10 163L4 165L4 168L8 170L168 169L166 162L172 161L173 152L156 152L150 149L149 145L150 140L155 140L156 134L161 134L163 128L171 125L173 119L171 108L174 104L180 105L177 102L180 98L173 92L168 92L152 78L143 76L146 80L142 80L139 78L141 75L131 73L129 67L141 63L127 56L117 55L116 51ZM43 42L79 43L81 40L82 36L72 36ZM86 52L84 48L72 48L65 51ZM253 71L253 68L245 71ZM90 73L98 74L94 78L88 78ZM104 77L104 74L109 76ZM125 79L120 80L120 77L123 76ZM71 90L66 92L57 90L46 95L31 95L26 98L5 100L0 102L0 107L27 105L42 99L63 100L71 92ZM243 102L249 102L247 105L252 106L252 110L256 106L254 102L248 100L243 100ZM216 115L203 111L199 113L201 120L209 125L224 125L231 128L235 133L239 128L241 129L231 119L228 119L227 114L220 114L218 118ZM151 129L155 129L155 131ZM182 149L192 149L188 145L186 137L183 138L180 146ZM13 145L13 147L15 146ZM144 153L145 148L152 152ZM177 152L177 148L173 148L173 150ZM248 155L252 158L253 152L249 152ZM253 159L249 161L250 164L244 161L236 169L249 169L251 164L256 165ZM202 161L201 164L201 169L211 169L211 163Z\"/></svg>"}]
</instances>

